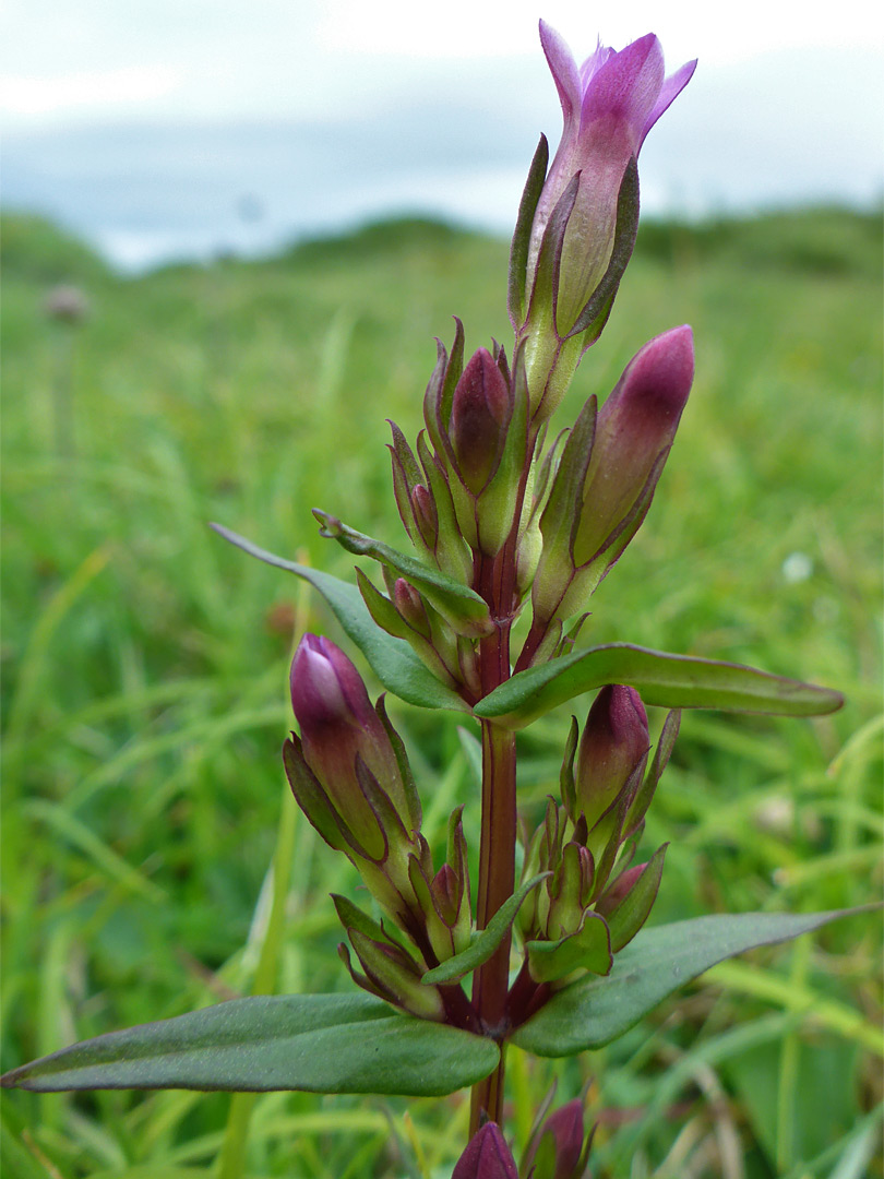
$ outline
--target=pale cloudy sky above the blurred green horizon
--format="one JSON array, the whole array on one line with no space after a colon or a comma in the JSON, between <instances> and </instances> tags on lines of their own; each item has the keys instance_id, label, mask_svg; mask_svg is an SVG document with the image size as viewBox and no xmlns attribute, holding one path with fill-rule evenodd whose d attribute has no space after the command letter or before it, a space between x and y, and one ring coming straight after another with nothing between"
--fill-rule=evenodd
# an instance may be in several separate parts
<instances>
[{"instance_id":1,"label":"pale cloudy sky above the blurred green horizon","mask_svg":"<svg viewBox=\"0 0 884 1179\"><path fill-rule=\"evenodd\" d=\"M543 9L578 58L594 48L575 0ZM858 0L800 26L760 0L727 31L702 12L636 0L598 17L615 47L655 27L667 72L700 57L642 149L645 212L879 204L884 55ZM508 236L537 137L559 138L526 0L454 0L425 28L400 0L371 20L350 0L132 0L121 15L101 0L7 8L2 204L123 271L402 215Z\"/></svg>"}]
</instances>

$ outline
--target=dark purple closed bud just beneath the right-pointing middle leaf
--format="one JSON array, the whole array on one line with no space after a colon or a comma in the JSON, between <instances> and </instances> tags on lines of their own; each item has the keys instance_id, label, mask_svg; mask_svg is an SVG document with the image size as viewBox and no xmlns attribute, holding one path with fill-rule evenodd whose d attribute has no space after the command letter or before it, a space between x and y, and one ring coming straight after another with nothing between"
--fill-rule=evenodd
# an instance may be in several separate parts
<instances>
[{"instance_id":1,"label":"dark purple closed bud just beneath the right-pointing middle leaf","mask_svg":"<svg viewBox=\"0 0 884 1179\"><path fill-rule=\"evenodd\" d=\"M576 809L589 830L627 783L635 789L651 747L647 713L633 687L602 687L593 702L576 759Z\"/></svg>"}]
</instances>

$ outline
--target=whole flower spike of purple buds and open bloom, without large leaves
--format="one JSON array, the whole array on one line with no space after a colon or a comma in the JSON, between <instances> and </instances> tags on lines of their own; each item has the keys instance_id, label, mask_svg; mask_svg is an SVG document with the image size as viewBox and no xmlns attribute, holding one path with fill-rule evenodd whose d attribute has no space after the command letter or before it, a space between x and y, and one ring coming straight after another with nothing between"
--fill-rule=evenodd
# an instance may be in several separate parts
<instances>
[{"instance_id":1,"label":"whole flower spike of purple buds and open bloom, without large leaves","mask_svg":"<svg viewBox=\"0 0 884 1179\"><path fill-rule=\"evenodd\" d=\"M645 519L693 378L691 329L674 328L638 353L601 409L591 397L574 427L546 446L546 423L598 338L632 251L635 158L693 64L666 80L660 45L648 35L620 53L599 47L578 68L546 25L541 40L565 129L548 174L541 145L522 199L510 262L512 354L493 343L466 358L456 321L450 353L438 343L414 449L391 423L392 487L413 554L316 513L324 535L380 564L385 593L357 571L374 621L407 640L467 707L508 679L513 664L542 665L573 641L569 621ZM513 659L528 602L530 623ZM295 796L325 842L356 865L381 911L376 920L335 898L362 987L415 1015L502 1035L575 970L611 970L660 882L665 848L645 864L631 859L677 716L649 768L647 718L633 689L599 693L579 745L574 722L561 803L549 801L526 849L525 880L536 883L516 921L522 970L486 1025L481 1000L477 1008L456 981L467 970L423 981L471 946L460 810L436 868L383 699L371 706L358 672L328 639L302 640L291 698L301 736L286 742L284 760ZM495 877L486 861L480 891L489 878L499 883L479 898L480 929L514 889L512 865ZM499 941L506 953L508 930ZM342 947L342 955L350 966L350 951Z\"/></svg>"}]
</instances>

